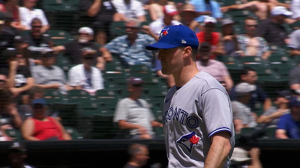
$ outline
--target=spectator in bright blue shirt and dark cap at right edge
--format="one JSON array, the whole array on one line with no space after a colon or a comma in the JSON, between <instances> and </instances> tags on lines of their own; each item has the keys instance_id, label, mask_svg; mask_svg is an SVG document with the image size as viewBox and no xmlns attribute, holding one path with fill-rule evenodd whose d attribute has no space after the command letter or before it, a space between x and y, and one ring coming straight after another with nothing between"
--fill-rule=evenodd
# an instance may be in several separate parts
<instances>
[{"instance_id":1,"label":"spectator in bright blue shirt and dark cap at right edge","mask_svg":"<svg viewBox=\"0 0 300 168\"><path fill-rule=\"evenodd\" d=\"M289 100L291 112L279 118L275 137L280 139L300 138L300 100L299 97L292 97Z\"/></svg>"}]
</instances>

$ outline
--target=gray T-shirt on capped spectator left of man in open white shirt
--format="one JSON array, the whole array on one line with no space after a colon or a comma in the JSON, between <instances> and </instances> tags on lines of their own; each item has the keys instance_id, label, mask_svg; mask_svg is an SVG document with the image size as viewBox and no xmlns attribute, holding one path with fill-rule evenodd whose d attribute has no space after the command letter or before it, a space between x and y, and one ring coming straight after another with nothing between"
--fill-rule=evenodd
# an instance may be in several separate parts
<instances>
[{"instance_id":1,"label":"gray T-shirt on capped spectator left of man in open white shirt","mask_svg":"<svg viewBox=\"0 0 300 168\"><path fill-rule=\"evenodd\" d=\"M59 91L65 93L67 88L66 75L58 66L53 65L51 68L46 68L43 65L37 65L32 68L32 76L35 78L35 83L40 85L61 84Z\"/></svg>"}]
</instances>

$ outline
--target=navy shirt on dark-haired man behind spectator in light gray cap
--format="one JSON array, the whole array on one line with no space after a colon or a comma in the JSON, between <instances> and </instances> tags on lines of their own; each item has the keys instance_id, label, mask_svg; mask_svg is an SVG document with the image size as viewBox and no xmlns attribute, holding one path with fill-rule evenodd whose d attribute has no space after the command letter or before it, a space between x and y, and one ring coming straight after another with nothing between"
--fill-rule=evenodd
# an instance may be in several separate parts
<instances>
[{"instance_id":1,"label":"navy shirt on dark-haired man behind spectator in light gray cap","mask_svg":"<svg viewBox=\"0 0 300 168\"><path fill-rule=\"evenodd\" d=\"M236 100L236 92L235 92L235 86L231 89L230 91L230 100ZM265 94L265 92L262 90L262 88L258 87L256 85L256 90L255 91L251 91L251 99L249 100L249 104L248 106L251 108L251 110L257 110L255 109L255 104L257 102L261 102L262 104L265 102L265 99L268 98L268 95Z\"/></svg>"}]
</instances>

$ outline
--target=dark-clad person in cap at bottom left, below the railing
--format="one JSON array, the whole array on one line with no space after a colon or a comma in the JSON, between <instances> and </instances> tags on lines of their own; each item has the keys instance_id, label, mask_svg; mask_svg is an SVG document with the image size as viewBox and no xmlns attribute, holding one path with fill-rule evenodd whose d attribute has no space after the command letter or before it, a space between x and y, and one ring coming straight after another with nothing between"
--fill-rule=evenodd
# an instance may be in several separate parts
<instances>
[{"instance_id":1,"label":"dark-clad person in cap at bottom left, below the railing","mask_svg":"<svg viewBox=\"0 0 300 168\"><path fill-rule=\"evenodd\" d=\"M34 168L26 163L26 147L21 142L13 142L9 148L8 161L9 167L5 168Z\"/></svg>"}]
</instances>

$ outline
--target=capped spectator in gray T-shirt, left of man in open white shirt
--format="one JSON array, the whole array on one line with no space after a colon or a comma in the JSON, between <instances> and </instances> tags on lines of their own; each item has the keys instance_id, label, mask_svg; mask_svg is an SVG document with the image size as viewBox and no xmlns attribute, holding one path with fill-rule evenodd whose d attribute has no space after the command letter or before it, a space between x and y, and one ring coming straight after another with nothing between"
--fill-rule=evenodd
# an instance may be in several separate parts
<instances>
[{"instance_id":1,"label":"capped spectator in gray T-shirt, left of man in open white shirt","mask_svg":"<svg viewBox=\"0 0 300 168\"><path fill-rule=\"evenodd\" d=\"M58 89L67 94L68 85L64 70L55 66L56 55L51 49L41 52L42 65L32 68L32 76L37 86L44 89Z\"/></svg>"}]
</instances>

